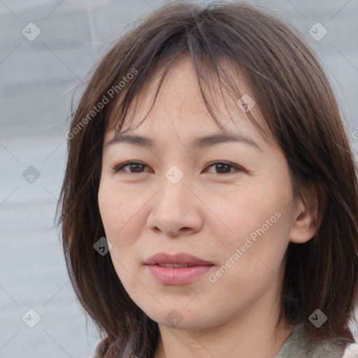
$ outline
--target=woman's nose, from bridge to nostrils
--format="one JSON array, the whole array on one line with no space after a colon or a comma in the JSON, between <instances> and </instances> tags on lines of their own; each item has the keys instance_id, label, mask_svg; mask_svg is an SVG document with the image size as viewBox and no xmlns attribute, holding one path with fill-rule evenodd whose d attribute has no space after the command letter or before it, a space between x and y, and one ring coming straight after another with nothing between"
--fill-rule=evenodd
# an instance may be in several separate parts
<instances>
[{"instance_id":1,"label":"woman's nose, from bridge to nostrils","mask_svg":"<svg viewBox=\"0 0 358 358\"><path fill-rule=\"evenodd\" d=\"M156 234L182 236L194 234L203 226L203 203L182 178L176 184L164 178L162 189L150 201L148 227Z\"/></svg>"}]
</instances>

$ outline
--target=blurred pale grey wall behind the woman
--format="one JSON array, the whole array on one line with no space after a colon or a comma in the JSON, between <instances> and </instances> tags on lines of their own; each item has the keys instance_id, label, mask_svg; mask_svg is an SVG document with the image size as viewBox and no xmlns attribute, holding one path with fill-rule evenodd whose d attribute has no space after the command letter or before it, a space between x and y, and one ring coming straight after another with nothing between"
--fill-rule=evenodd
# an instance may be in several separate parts
<instances>
[{"instance_id":1,"label":"blurred pale grey wall behind the woman","mask_svg":"<svg viewBox=\"0 0 358 358\"><path fill-rule=\"evenodd\" d=\"M358 1L248 1L317 52L358 152ZM0 0L0 357L89 357L99 342L73 294L53 227L71 98L156 0ZM357 356L358 357L358 352Z\"/></svg>"}]
</instances>

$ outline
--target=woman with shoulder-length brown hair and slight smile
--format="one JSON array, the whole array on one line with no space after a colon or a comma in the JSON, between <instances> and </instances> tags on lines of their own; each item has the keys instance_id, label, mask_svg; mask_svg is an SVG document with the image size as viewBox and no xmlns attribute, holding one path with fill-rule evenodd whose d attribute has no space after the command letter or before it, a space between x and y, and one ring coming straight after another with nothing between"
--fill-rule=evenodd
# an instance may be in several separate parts
<instances>
[{"instance_id":1,"label":"woman with shoulder-length brown hair and slight smile","mask_svg":"<svg viewBox=\"0 0 358 358\"><path fill-rule=\"evenodd\" d=\"M95 357L343 357L357 166L299 35L243 3L169 3L73 114L59 206Z\"/></svg>"}]
</instances>

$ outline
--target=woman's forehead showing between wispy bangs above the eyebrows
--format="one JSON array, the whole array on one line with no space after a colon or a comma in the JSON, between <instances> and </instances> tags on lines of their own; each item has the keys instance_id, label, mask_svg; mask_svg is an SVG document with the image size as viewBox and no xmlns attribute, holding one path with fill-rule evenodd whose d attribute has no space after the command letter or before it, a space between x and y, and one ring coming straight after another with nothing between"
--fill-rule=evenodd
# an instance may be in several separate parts
<instances>
[{"instance_id":1,"label":"woman's forehead showing between wispy bangs above the eyebrows","mask_svg":"<svg viewBox=\"0 0 358 358\"><path fill-rule=\"evenodd\" d=\"M121 131L131 129L138 134L145 134L151 130L162 132L167 126L171 126L187 134L193 131L212 134L214 131L223 130L259 136L257 127L250 122L245 111L248 108L245 104L250 106L250 114L255 120L268 130L258 106L255 105L255 99L248 93L250 90L243 76L236 73L235 82L240 92L237 96L234 92L226 93L227 88L219 87L215 81L208 86L207 83L201 83L200 86L191 59L183 56L173 64L155 98L163 71L164 69L156 71L152 79L136 94L124 118ZM231 76L234 76L230 66L227 66L227 72L230 71ZM217 123L206 107L201 88L208 105L215 113ZM111 123L106 140L113 136L114 128L118 124L114 118Z\"/></svg>"}]
</instances>

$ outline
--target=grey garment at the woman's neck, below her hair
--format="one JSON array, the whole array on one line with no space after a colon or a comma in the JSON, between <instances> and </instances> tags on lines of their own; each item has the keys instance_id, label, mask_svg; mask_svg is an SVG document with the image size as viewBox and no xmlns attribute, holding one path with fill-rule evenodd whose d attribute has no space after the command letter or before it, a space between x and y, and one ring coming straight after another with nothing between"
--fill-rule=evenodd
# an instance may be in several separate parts
<instances>
[{"instance_id":1,"label":"grey garment at the woman's neck, below her hair","mask_svg":"<svg viewBox=\"0 0 358 358\"><path fill-rule=\"evenodd\" d=\"M342 358L343 355L343 348L336 347L333 344L322 343L310 347L305 327L298 324L275 358Z\"/></svg>"}]
</instances>

